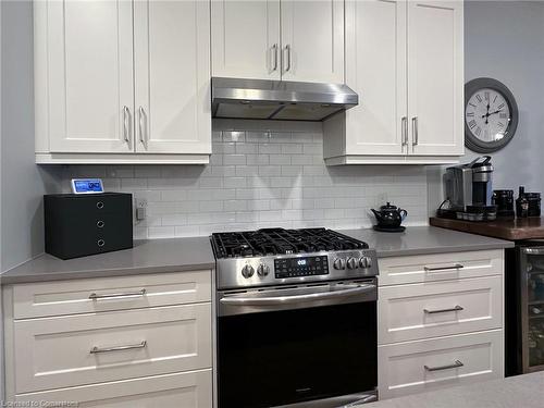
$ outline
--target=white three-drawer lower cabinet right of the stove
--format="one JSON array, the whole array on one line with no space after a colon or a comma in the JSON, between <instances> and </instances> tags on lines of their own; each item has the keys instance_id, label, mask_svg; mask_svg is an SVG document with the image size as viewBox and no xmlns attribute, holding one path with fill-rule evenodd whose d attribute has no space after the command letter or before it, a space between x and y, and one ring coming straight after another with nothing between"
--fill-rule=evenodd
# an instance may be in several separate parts
<instances>
[{"instance_id":1,"label":"white three-drawer lower cabinet right of the stove","mask_svg":"<svg viewBox=\"0 0 544 408\"><path fill-rule=\"evenodd\" d=\"M504 376L504 252L384 258L380 398Z\"/></svg>"}]
</instances>

